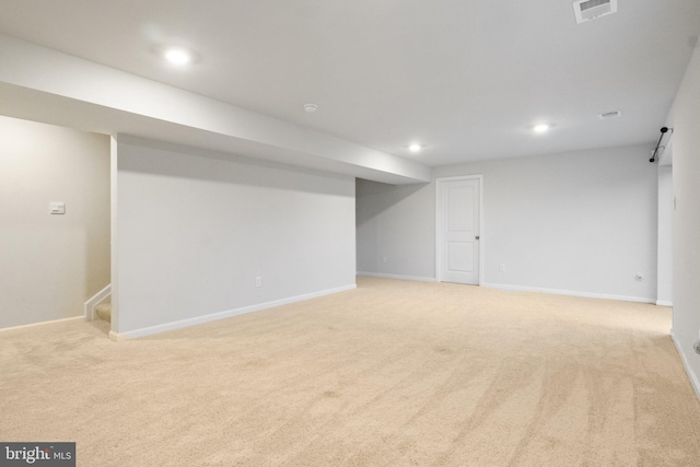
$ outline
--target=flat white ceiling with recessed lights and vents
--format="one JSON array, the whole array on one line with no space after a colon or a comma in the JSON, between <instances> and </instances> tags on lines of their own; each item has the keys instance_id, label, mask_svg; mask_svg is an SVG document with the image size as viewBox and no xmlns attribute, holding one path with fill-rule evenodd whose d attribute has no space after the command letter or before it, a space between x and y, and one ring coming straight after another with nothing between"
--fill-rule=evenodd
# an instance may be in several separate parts
<instances>
[{"instance_id":1,"label":"flat white ceiling with recessed lights and vents","mask_svg":"<svg viewBox=\"0 0 700 467\"><path fill-rule=\"evenodd\" d=\"M434 166L655 142L700 1L576 24L571 0L2 0L0 32Z\"/></svg>"}]
</instances>

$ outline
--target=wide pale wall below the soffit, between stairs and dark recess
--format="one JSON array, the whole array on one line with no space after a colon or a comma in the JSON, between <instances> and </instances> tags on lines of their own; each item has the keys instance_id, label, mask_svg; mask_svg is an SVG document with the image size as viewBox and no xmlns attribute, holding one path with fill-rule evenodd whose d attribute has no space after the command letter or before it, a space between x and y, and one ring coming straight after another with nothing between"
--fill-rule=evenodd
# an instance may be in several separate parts
<instances>
[{"instance_id":1,"label":"wide pale wall below the soffit, between stairs and dark recess","mask_svg":"<svg viewBox=\"0 0 700 467\"><path fill-rule=\"evenodd\" d=\"M117 138L115 332L354 287L352 177L205 155Z\"/></svg>"}]
</instances>

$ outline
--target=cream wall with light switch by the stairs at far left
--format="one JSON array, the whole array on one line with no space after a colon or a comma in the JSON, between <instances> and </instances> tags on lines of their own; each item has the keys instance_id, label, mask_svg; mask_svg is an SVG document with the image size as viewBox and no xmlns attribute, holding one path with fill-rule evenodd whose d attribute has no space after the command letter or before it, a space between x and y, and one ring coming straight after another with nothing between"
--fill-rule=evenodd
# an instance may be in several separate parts
<instances>
[{"instance_id":1,"label":"cream wall with light switch by the stairs at far left","mask_svg":"<svg viewBox=\"0 0 700 467\"><path fill-rule=\"evenodd\" d=\"M0 117L0 328L81 316L109 283L107 137Z\"/></svg>"}]
</instances>

